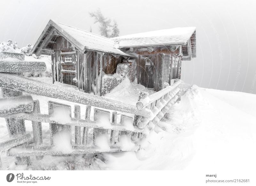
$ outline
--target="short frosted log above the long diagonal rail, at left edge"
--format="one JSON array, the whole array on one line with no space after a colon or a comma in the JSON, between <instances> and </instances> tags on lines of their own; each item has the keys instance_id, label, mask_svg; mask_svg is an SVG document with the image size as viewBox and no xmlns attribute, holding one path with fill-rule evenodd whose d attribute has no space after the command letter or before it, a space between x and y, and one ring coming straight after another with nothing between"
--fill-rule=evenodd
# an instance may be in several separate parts
<instances>
[{"instance_id":1,"label":"short frosted log above the long diagonal rail, at left edge","mask_svg":"<svg viewBox=\"0 0 256 186\"><path fill-rule=\"evenodd\" d=\"M41 61L19 61L7 60L0 61L0 72L22 73L22 72L44 72L46 65Z\"/></svg>"}]
</instances>

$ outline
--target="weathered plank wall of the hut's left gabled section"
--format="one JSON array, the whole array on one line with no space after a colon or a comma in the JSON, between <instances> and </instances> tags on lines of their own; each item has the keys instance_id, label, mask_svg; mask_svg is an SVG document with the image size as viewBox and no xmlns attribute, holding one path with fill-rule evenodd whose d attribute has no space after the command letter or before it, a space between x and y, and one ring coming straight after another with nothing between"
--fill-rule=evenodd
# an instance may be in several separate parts
<instances>
[{"instance_id":1,"label":"weathered plank wall of the hut's left gabled section","mask_svg":"<svg viewBox=\"0 0 256 186\"><path fill-rule=\"evenodd\" d=\"M92 84L96 85L95 79L100 74L100 52L73 50L71 43L64 37L56 38L52 45L52 71L54 81L61 81L66 84L75 85L80 90L90 93ZM65 63L65 56L72 57L72 63ZM117 64L122 63L123 57L114 57L105 53L102 56L102 71L105 74L116 73ZM57 75L59 74L59 75ZM77 79L77 82L73 80Z\"/></svg>"}]
</instances>

